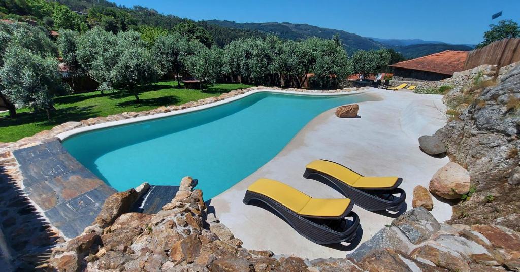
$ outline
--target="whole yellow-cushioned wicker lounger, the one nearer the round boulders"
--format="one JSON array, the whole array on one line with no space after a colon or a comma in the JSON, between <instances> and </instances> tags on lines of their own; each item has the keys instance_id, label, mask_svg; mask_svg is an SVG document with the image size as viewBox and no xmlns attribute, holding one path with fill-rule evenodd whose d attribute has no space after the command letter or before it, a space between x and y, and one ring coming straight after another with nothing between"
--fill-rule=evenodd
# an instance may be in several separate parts
<instances>
[{"instance_id":1,"label":"whole yellow-cushioned wicker lounger, the one nearer the round boulders","mask_svg":"<svg viewBox=\"0 0 520 272\"><path fill-rule=\"evenodd\" d=\"M400 177L365 177L347 167L326 160L313 161L306 166L305 178L334 184L354 203L369 211L399 211L406 193L397 188ZM395 196L399 195L399 196Z\"/></svg>"}]
</instances>

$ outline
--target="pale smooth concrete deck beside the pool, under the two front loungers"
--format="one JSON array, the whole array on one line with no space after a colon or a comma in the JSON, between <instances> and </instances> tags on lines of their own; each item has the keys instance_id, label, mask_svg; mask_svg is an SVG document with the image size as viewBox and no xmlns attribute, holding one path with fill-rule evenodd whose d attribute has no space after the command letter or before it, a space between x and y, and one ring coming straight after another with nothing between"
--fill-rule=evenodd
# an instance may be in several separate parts
<instances>
[{"instance_id":1,"label":"pale smooth concrete deck beside the pool, under the two front loungers","mask_svg":"<svg viewBox=\"0 0 520 272\"><path fill-rule=\"evenodd\" d=\"M287 183L315 198L343 196L320 182L305 179L305 165L316 159L332 160L363 175L397 175L412 208L412 191L427 188L432 175L449 162L419 149L418 138L431 135L446 123L446 107L440 95L418 95L368 89L381 101L359 102L359 118L337 118L335 108L309 122L285 148L256 172L211 200L215 215L245 248L268 249L275 254L307 258L345 257L352 247L327 247L297 234L278 216L254 205L242 203L246 188L257 178L267 177ZM438 221L449 219L451 206L433 198L432 214ZM363 230L360 243L370 239L393 217L354 207Z\"/></svg>"}]
</instances>

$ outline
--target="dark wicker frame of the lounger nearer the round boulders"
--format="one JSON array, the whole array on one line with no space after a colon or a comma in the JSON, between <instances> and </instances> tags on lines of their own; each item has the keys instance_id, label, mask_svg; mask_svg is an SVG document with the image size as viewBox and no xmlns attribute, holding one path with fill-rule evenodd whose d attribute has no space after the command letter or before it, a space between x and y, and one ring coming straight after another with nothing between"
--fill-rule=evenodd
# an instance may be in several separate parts
<instances>
[{"instance_id":1,"label":"dark wicker frame of the lounger nearer the round boulders","mask_svg":"<svg viewBox=\"0 0 520 272\"><path fill-rule=\"evenodd\" d=\"M336 164L341 165L339 163ZM344 165L341 166L345 167ZM345 168L348 169L348 167ZM359 173L357 174L361 175ZM400 188L397 188L402 183L402 178L400 177L397 178L397 182L394 186L378 189L355 188L333 176L313 169L306 169L305 173L303 174L303 177L315 179L325 184L332 183L335 187L340 189L340 191L343 193L345 197L351 199L352 201L354 201L356 205L359 205L361 206L361 208L368 211L399 211L401 205L405 203L406 200L405 191Z\"/></svg>"}]
</instances>

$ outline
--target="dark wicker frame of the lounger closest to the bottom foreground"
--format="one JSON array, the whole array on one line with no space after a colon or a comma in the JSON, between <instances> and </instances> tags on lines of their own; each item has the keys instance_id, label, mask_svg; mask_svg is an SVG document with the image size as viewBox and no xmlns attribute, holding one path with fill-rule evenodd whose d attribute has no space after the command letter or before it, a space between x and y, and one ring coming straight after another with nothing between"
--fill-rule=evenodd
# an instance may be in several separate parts
<instances>
[{"instance_id":1,"label":"dark wicker frame of the lounger closest to the bottom foreground","mask_svg":"<svg viewBox=\"0 0 520 272\"><path fill-rule=\"evenodd\" d=\"M359 228L359 217L352 212L351 202L345 212L336 217L303 216L260 193L246 191L242 202L260 201L276 211L298 234L317 244L334 244L353 241ZM348 220L345 217L352 217Z\"/></svg>"}]
</instances>

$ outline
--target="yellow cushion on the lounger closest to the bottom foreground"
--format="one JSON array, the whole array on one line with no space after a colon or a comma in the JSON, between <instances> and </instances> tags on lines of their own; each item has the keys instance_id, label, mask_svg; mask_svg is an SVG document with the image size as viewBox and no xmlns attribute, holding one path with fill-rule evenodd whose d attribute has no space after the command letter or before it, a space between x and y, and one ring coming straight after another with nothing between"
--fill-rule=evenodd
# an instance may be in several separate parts
<instances>
[{"instance_id":1,"label":"yellow cushion on the lounger closest to the bottom foreground","mask_svg":"<svg viewBox=\"0 0 520 272\"><path fill-rule=\"evenodd\" d=\"M302 216L340 216L350 204L350 199L311 198L287 184L268 178L259 178L248 191L264 195Z\"/></svg>"}]
</instances>

